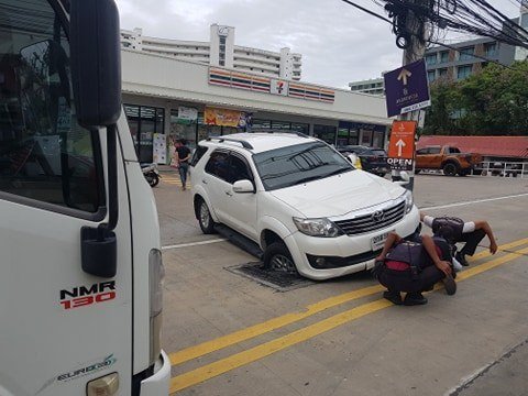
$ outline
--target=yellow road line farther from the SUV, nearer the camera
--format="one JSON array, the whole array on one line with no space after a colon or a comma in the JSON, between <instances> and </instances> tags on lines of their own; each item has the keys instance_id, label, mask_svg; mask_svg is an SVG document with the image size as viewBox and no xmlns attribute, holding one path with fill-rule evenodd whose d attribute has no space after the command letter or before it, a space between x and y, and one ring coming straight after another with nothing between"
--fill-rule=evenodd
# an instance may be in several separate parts
<instances>
[{"instance_id":1,"label":"yellow road line farther from the SUV, nearer the camera","mask_svg":"<svg viewBox=\"0 0 528 396\"><path fill-rule=\"evenodd\" d=\"M458 277L458 280L468 279L485 271L503 265L512 260L518 258L519 254L528 254L528 248L516 251L515 253L508 253L502 257L494 258L487 263L479 265L477 267L466 270L464 273L460 274L460 279ZM265 342L243 352L235 353L213 363L206 364L190 372L177 375L170 380L169 391L170 393L175 393L189 386L199 384L206 380L210 380L231 370L255 362L275 352L278 352L302 341L307 341L316 336L324 333L350 321L362 318L366 315L387 308L392 305L392 302L385 299L378 299L372 302L363 304L359 307L334 315L330 318L323 319L319 322L307 326L289 334L279 337L275 340Z\"/></svg>"}]
</instances>

